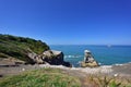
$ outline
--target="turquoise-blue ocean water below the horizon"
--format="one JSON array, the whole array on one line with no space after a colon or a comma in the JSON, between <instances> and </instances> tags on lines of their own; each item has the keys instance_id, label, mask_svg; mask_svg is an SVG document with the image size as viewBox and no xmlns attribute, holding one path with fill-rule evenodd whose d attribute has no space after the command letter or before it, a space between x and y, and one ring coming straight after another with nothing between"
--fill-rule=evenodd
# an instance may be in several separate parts
<instances>
[{"instance_id":1,"label":"turquoise-blue ocean water below the horizon","mask_svg":"<svg viewBox=\"0 0 131 87\"><path fill-rule=\"evenodd\" d=\"M88 45L51 45L52 50L64 53L64 61L80 66L84 50L90 50L100 65L112 65L131 62L131 46L88 46Z\"/></svg>"}]
</instances>

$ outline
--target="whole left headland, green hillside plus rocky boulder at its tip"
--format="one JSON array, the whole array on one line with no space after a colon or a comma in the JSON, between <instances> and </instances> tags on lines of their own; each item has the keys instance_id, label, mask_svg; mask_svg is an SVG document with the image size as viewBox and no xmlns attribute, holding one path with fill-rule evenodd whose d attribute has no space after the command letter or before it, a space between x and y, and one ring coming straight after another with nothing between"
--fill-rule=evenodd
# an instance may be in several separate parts
<instances>
[{"instance_id":1,"label":"whole left headland, green hillside plus rocky boulder at its tip","mask_svg":"<svg viewBox=\"0 0 131 87\"><path fill-rule=\"evenodd\" d=\"M50 50L41 40L0 34L0 64L55 64L71 66L61 51Z\"/></svg>"}]
</instances>

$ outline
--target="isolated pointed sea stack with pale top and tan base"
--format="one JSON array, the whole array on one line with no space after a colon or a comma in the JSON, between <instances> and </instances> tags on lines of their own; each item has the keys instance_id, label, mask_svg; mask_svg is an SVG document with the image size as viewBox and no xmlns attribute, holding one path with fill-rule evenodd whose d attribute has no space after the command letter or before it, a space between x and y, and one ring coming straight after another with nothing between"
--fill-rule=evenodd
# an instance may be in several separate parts
<instances>
[{"instance_id":1,"label":"isolated pointed sea stack with pale top and tan base","mask_svg":"<svg viewBox=\"0 0 131 87\"><path fill-rule=\"evenodd\" d=\"M81 62L81 66L82 67L95 67L98 66L97 61L94 60L91 51L85 50L84 51L85 55L84 55L84 61Z\"/></svg>"}]
</instances>

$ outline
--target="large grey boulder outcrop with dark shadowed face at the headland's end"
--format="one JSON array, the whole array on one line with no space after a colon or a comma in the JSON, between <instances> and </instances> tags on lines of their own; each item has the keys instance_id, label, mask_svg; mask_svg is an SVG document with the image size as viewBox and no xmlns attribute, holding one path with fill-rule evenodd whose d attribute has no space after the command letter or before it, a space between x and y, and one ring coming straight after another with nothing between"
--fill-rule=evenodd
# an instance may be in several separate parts
<instances>
[{"instance_id":1,"label":"large grey boulder outcrop with dark shadowed face at the headland's end","mask_svg":"<svg viewBox=\"0 0 131 87\"><path fill-rule=\"evenodd\" d=\"M49 63L51 65L64 65L71 66L69 62L63 60L63 52L56 50L47 50L43 54L28 53L28 57L34 60L34 63L44 64Z\"/></svg>"}]
</instances>

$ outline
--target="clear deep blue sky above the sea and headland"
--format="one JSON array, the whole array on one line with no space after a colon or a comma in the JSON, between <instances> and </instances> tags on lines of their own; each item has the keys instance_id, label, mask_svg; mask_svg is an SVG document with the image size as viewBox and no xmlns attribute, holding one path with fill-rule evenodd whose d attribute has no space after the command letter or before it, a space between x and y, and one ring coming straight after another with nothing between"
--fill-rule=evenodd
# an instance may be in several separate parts
<instances>
[{"instance_id":1,"label":"clear deep blue sky above the sea and headland","mask_svg":"<svg viewBox=\"0 0 131 87\"><path fill-rule=\"evenodd\" d=\"M0 0L0 34L49 45L131 45L131 0Z\"/></svg>"}]
</instances>

